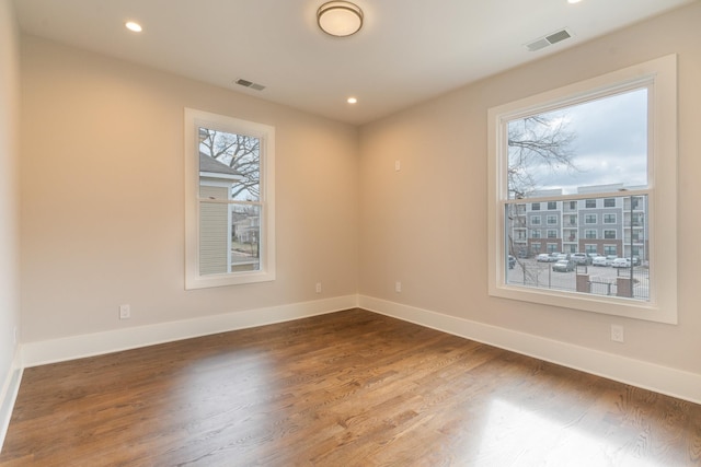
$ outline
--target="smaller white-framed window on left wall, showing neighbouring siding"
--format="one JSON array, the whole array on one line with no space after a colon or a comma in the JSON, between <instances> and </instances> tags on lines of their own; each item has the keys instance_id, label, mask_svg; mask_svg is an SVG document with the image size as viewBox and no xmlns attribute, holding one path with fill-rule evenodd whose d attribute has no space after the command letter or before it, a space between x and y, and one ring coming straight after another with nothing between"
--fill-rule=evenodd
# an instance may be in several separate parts
<instances>
[{"instance_id":1,"label":"smaller white-framed window on left wall, showing neighbouring siding","mask_svg":"<svg viewBox=\"0 0 701 467\"><path fill-rule=\"evenodd\" d=\"M275 279L273 127L185 109L185 287Z\"/></svg>"}]
</instances>

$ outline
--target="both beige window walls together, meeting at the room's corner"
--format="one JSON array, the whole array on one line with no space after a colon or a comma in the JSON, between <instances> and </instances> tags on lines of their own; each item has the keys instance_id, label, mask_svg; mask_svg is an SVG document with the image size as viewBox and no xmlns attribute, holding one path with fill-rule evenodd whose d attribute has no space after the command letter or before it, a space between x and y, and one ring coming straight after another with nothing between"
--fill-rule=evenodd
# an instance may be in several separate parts
<instances>
[{"instance_id":1,"label":"both beige window walls together, meeting at the room's corner","mask_svg":"<svg viewBox=\"0 0 701 467\"><path fill-rule=\"evenodd\" d=\"M359 291L701 374L698 24L699 2L368 125L359 137L295 109L23 37L23 340L317 300L321 280L322 297ZM487 108L671 52L679 325L490 297ZM275 282L184 291L185 106L276 127ZM129 322L117 319L122 303L131 304ZM625 325L625 345L610 341L612 323Z\"/></svg>"}]
</instances>

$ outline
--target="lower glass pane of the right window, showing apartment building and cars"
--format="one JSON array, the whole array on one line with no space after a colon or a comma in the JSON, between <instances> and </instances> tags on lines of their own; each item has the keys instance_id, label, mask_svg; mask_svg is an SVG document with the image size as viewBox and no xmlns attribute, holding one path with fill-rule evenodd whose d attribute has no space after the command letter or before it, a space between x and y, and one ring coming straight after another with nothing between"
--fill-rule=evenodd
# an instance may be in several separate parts
<instances>
[{"instance_id":1,"label":"lower glass pane of the right window, showing apartment building and cars","mask_svg":"<svg viewBox=\"0 0 701 467\"><path fill-rule=\"evenodd\" d=\"M606 208L608 211L616 211L610 212L608 218L613 223L607 223L606 229L599 227L600 231L584 224L565 226L562 231L548 229L547 252L541 250L542 231L520 222L522 218L530 215L530 212L520 211L516 209L516 205L507 203L506 247L509 255L519 259L514 268L506 270L506 283L650 301L647 196L621 196L614 200L617 208ZM604 206L604 202L599 201L598 205ZM586 210L586 203L582 203L581 209ZM576 214L558 215L566 220ZM585 219L589 215L596 218L596 214L586 214ZM594 219L594 222L597 220ZM568 221L565 225L567 223ZM537 241L533 242L533 238ZM553 243L553 240L556 240L556 243ZM564 255L579 252L611 256L610 262L607 266L570 265L571 258ZM563 257L538 256L545 253L561 253ZM624 259L614 262L616 257L628 258L628 262ZM555 262L558 259L564 262ZM631 262L632 267L628 266Z\"/></svg>"}]
</instances>

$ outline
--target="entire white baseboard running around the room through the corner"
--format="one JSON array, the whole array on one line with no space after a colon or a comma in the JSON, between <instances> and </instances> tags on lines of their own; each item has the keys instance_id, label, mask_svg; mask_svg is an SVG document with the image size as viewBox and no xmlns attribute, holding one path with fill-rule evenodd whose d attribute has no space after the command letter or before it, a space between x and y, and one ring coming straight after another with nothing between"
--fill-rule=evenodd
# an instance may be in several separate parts
<instances>
[{"instance_id":1,"label":"entire white baseboard running around the room through the corner","mask_svg":"<svg viewBox=\"0 0 701 467\"><path fill-rule=\"evenodd\" d=\"M701 404L701 375L641 360L602 352L572 343L490 326L440 313L402 305L365 295L346 295L327 300L250 310L197 319L131 327L61 339L28 342L22 346L22 367L74 360L83 357L152 346L228 330L263 326L334 313L359 306L370 312L449 332L548 362L581 370L633 386L651 389L691 402ZM13 377L19 387L19 377ZM2 395L3 406L15 388ZM12 398L12 400L14 400ZM12 404L10 404L11 410ZM0 422L5 413L0 413Z\"/></svg>"}]
</instances>

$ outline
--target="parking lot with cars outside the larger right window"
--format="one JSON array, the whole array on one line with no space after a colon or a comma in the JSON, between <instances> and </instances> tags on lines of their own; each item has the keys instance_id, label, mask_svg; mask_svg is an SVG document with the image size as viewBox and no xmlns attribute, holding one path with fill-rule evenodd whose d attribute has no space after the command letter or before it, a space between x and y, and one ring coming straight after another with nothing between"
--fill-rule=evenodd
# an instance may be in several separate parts
<instances>
[{"instance_id":1,"label":"parking lot with cars outside the larger right window","mask_svg":"<svg viewBox=\"0 0 701 467\"><path fill-rule=\"evenodd\" d=\"M588 275L589 293L613 295L618 293L619 277L630 278L631 268L612 268L599 266L576 266L574 271L556 272L552 270L554 262L539 262L535 258L517 259L513 269L508 269L506 281L513 285L535 287L538 289L558 289L576 291L576 276ZM632 269L633 297L647 301L650 299L648 269L635 266Z\"/></svg>"}]
</instances>

